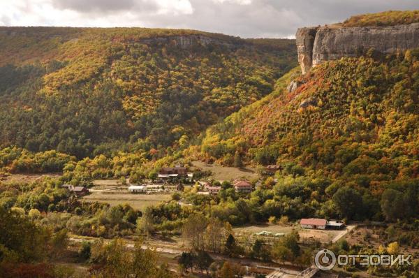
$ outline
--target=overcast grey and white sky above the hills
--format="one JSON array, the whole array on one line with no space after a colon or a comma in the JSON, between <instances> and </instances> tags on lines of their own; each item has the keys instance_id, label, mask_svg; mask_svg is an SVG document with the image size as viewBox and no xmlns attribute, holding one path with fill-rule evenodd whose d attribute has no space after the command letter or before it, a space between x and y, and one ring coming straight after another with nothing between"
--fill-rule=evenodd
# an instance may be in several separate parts
<instances>
[{"instance_id":1,"label":"overcast grey and white sky above the hills","mask_svg":"<svg viewBox=\"0 0 419 278\"><path fill-rule=\"evenodd\" d=\"M419 0L0 0L0 26L161 27L291 38L298 27L419 9Z\"/></svg>"}]
</instances>

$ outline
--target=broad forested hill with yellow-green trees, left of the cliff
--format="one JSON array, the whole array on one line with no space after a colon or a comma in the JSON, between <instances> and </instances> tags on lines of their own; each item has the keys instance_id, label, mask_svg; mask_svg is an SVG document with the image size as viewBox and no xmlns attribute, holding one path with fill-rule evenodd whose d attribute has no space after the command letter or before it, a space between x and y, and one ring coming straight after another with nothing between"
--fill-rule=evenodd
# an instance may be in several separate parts
<instances>
[{"instance_id":1,"label":"broad forested hill with yellow-green trees, left of the cliff","mask_svg":"<svg viewBox=\"0 0 419 278\"><path fill-rule=\"evenodd\" d=\"M272 92L293 40L0 27L0 145L82 158L185 145Z\"/></svg>"}]
</instances>

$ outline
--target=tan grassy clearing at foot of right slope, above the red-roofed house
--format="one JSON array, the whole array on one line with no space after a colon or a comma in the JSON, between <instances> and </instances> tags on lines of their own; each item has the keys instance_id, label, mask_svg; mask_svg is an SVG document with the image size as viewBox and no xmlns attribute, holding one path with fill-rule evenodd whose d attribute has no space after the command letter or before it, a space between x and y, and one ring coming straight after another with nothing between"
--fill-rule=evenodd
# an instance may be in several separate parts
<instances>
[{"instance_id":1,"label":"tan grassy clearing at foot of right slope, above the red-roofed house","mask_svg":"<svg viewBox=\"0 0 419 278\"><path fill-rule=\"evenodd\" d=\"M236 178L252 180L258 177L258 173L256 173L256 169L254 168L223 167L207 164L202 161L193 161L192 165L203 170L210 170L212 172L211 177L214 180L233 180Z\"/></svg>"}]
</instances>

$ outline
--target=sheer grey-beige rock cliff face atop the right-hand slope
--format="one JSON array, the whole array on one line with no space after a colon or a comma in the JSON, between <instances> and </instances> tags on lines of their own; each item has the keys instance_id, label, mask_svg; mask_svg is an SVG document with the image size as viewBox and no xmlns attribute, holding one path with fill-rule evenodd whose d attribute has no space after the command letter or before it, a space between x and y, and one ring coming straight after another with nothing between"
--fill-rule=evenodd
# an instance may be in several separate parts
<instances>
[{"instance_id":1,"label":"sheer grey-beige rock cliff face atop the right-hand slope","mask_svg":"<svg viewBox=\"0 0 419 278\"><path fill-rule=\"evenodd\" d=\"M297 38L298 61L303 73L323 61L357 57L369 49L384 54L419 47L419 23L390 27L301 28Z\"/></svg>"}]
</instances>

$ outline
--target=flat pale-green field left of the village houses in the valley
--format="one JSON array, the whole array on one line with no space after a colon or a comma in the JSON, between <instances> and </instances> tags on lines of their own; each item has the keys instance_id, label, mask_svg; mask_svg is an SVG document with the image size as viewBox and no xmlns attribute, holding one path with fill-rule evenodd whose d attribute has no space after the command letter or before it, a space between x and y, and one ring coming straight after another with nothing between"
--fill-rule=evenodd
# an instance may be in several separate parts
<instances>
[{"instance_id":1,"label":"flat pale-green field left of the village houses in the valley","mask_svg":"<svg viewBox=\"0 0 419 278\"><path fill-rule=\"evenodd\" d=\"M112 206L120 204L129 204L136 210L145 210L150 205L159 205L160 203L170 200L170 194L133 194L126 191L121 192L93 192L88 196L84 196L82 200L87 202L108 203Z\"/></svg>"}]
</instances>

